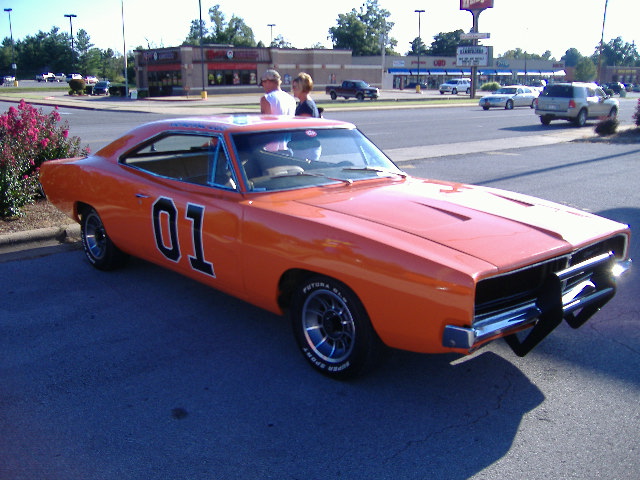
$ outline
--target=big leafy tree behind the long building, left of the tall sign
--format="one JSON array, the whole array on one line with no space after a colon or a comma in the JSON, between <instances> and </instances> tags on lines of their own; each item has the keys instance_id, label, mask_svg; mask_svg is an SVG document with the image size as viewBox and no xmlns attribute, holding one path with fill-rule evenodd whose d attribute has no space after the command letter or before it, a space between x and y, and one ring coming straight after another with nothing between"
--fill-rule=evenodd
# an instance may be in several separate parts
<instances>
[{"instance_id":1,"label":"big leafy tree behind the long building, left of the tall sign","mask_svg":"<svg viewBox=\"0 0 640 480\"><path fill-rule=\"evenodd\" d=\"M390 16L378 0L367 0L359 11L339 14L337 25L329 29L333 48L350 49L354 56L380 55L383 47L393 53L398 41L389 37L394 25L387 20Z\"/></svg>"}]
</instances>

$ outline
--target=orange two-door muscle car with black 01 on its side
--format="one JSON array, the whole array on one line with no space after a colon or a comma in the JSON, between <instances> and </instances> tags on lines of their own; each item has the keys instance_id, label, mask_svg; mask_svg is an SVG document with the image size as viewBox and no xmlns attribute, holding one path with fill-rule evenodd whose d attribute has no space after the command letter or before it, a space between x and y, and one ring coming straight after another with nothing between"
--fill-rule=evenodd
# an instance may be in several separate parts
<instances>
[{"instance_id":1,"label":"orange two-door muscle car with black 01 on its side","mask_svg":"<svg viewBox=\"0 0 640 480\"><path fill-rule=\"evenodd\" d=\"M287 314L334 378L385 346L525 355L579 327L630 265L629 228L525 195L412 178L351 124L228 115L153 122L47 162L48 198L99 269L133 255Z\"/></svg>"}]
</instances>

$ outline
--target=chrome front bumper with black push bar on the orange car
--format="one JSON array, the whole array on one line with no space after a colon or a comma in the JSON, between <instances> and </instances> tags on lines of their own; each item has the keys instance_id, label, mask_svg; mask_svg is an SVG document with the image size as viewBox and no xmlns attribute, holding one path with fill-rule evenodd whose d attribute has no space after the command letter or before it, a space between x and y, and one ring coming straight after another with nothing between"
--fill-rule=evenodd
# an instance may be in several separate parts
<instances>
[{"instance_id":1,"label":"chrome front bumper with black push bar on the orange car","mask_svg":"<svg viewBox=\"0 0 640 480\"><path fill-rule=\"evenodd\" d=\"M500 337L516 355L523 357L565 319L572 328L581 327L616 292L616 278L627 271L631 260L616 260L604 253L549 275L538 297L525 305L485 317L471 328L447 325L442 344L469 352ZM585 277L575 284L576 277ZM571 287L566 288L570 284ZM530 329L522 339L516 333Z\"/></svg>"}]
</instances>

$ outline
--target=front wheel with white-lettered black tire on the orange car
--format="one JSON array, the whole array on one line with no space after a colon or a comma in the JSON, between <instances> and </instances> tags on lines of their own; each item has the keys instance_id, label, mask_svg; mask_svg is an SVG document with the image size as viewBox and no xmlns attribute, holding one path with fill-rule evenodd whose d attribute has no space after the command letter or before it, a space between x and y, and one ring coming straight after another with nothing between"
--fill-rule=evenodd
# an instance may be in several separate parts
<instances>
[{"instance_id":1,"label":"front wheel with white-lettered black tire on the orange car","mask_svg":"<svg viewBox=\"0 0 640 480\"><path fill-rule=\"evenodd\" d=\"M384 345L358 297L329 277L307 278L291 302L293 333L304 358L328 377L344 380L371 369Z\"/></svg>"}]
</instances>

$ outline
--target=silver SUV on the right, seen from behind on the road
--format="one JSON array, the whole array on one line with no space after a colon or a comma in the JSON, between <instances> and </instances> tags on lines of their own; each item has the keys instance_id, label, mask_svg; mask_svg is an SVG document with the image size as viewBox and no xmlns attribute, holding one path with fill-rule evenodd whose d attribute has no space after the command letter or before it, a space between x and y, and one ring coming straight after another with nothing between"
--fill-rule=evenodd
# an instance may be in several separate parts
<instances>
[{"instance_id":1,"label":"silver SUV on the right, seen from behind on the road","mask_svg":"<svg viewBox=\"0 0 640 480\"><path fill-rule=\"evenodd\" d=\"M589 118L615 118L618 108L618 100L595 83L550 84L535 101L536 115L540 115L543 125L549 125L551 120L569 120L583 127Z\"/></svg>"}]
</instances>

